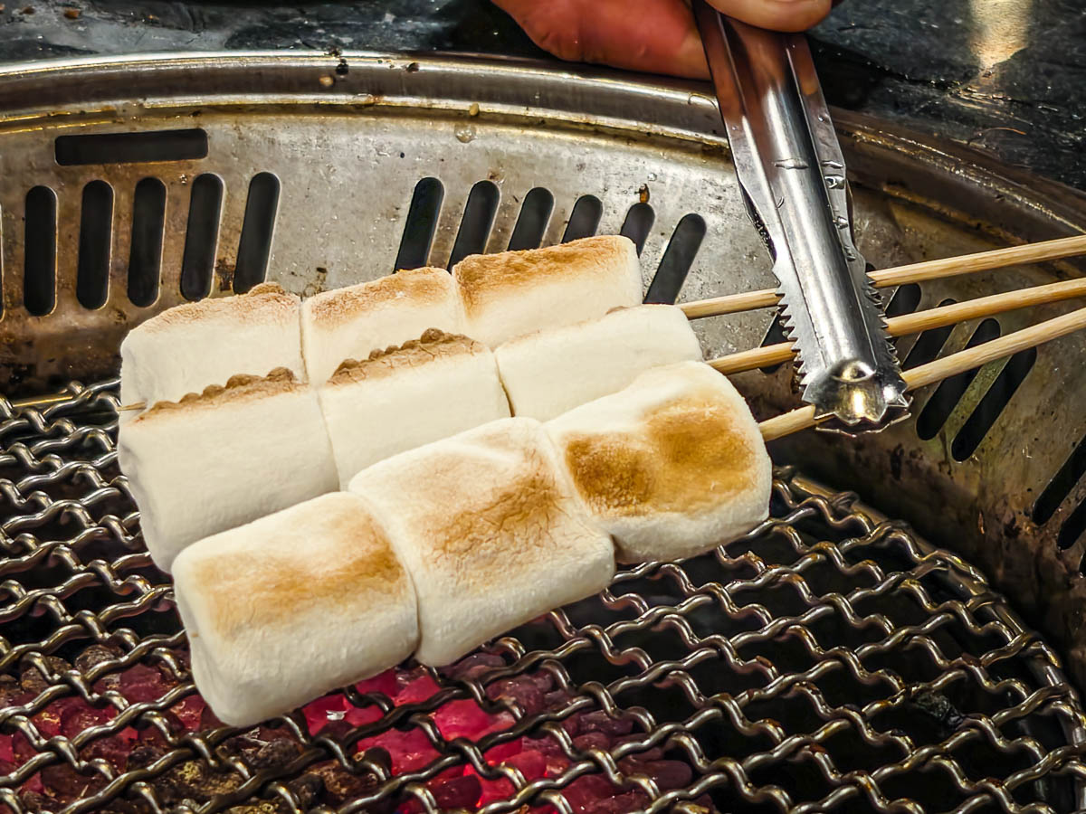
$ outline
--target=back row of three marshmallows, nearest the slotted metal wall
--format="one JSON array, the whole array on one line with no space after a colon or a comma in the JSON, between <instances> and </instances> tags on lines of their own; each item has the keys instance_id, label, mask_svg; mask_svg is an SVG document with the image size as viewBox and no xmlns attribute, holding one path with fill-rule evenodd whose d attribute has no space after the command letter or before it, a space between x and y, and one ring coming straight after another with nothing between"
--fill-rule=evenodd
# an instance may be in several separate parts
<instances>
[{"instance_id":1,"label":"back row of three marshmallows, nearest the slotted metal wall","mask_svg":"<svg viewBox=\"0 0 1086 814\"><path fill-rule=\"evenodd\" d=\"M452 275L404 270L305 302L262 284L171 308L129 332L121 344L121 402L176 402L230 376L280 367L320 385L344 359L365 359L430 328L493 347L637 305L641 292L637 254L622 237L471 256Z\"/></svg>"}]
</instances>

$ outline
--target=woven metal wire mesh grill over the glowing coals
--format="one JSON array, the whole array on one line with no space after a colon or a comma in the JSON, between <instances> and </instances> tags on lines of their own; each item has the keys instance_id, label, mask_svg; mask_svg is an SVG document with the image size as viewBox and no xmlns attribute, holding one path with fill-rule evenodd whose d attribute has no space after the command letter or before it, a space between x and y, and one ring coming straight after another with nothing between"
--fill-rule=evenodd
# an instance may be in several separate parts
<instances>
[{"instance_id":1,"label":"woven metal wire mesh grill over the glowing coals","mask_svg":"<svg viewBox=\"0 0 1086 814\"><path fill-rule=\"evenodd\" d=\"M0 399L13 812L1084 803L1086 718L1048 646L974 569L790 471L771 519L724 549L623 571L452 667L223 726L116 468L115 385Z\"/></svg>"}]
</instances>

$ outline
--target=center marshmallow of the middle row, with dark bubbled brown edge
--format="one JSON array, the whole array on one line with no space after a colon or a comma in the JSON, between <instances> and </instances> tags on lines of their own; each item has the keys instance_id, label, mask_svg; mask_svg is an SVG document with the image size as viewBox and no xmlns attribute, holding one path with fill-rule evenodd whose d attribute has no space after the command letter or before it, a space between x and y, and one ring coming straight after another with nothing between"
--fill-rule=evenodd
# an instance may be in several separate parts
<instances>
[{"instance_id":1,"label":"center marshmallow of the middle row, with dark bubbled brown edge","mask_svg":"<svg viewBox=\"0 0 1086 814\"><path fill-rule=\"evenodd\" d=\"M341 488L396 453L509 417L491 349L434 329L343 363L318 395Z\"/></svg>"}]
</instances>

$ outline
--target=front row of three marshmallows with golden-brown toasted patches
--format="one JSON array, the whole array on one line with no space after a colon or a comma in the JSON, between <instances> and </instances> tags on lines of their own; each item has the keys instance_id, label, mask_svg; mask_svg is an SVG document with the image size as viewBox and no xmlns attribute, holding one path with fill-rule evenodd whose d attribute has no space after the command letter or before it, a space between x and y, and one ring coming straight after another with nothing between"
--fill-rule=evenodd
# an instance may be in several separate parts
<instances>
[{"instance_id":1,"label":"front row of three marshmallows with golden-brown toasted patches","mask_svg":"<svg viewBox=\"0 0 1086 814\"><path fill-rule=\"evenodd\" d=\"M547 423L492 421L187 548L174 578L197 686L248 726L412 652L450 663L603 589L616 557L728 542L769 496L758 425L704 364Z\"/></svg>"}]
</instances>

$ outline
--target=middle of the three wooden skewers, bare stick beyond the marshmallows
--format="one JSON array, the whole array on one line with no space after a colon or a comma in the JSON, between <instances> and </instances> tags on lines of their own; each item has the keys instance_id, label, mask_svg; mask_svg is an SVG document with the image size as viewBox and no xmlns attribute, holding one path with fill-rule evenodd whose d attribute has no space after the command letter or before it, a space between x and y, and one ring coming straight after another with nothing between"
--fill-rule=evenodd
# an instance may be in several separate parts
<instances>
[{"instance_id":1,"label":"middle of the three wooden skewers, bare stick beyond the marshmallows","mask_svg":"<svg viewBox=\"0 0 1086 814\"><path fill-rule=\"evenodd\" d=\"M891 317L886 320L886 330L891 336L906 336L910 333L926 331L929 328L943 328L963 322L967 319L990 317L1018 308L1058 303L1062 300L1073 300L1079 296L1086 296L1086 279L1063 280L1047 285L1034 285L1030 289L982 296L964 303L954 303L915 314ZM755 347L721 356L719 359L710 360L709 364L721 373L730 376L743 370L780 365L791 359L792 356L792 343L781 342L775 345Z\"/></svg>"}]
</instances>

